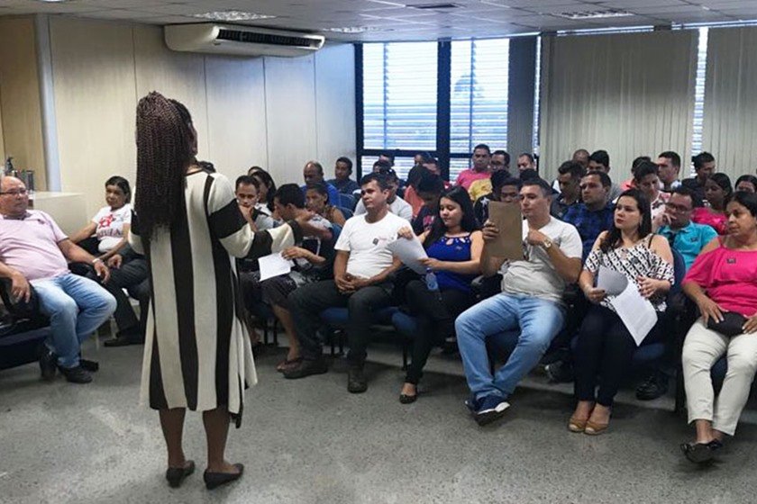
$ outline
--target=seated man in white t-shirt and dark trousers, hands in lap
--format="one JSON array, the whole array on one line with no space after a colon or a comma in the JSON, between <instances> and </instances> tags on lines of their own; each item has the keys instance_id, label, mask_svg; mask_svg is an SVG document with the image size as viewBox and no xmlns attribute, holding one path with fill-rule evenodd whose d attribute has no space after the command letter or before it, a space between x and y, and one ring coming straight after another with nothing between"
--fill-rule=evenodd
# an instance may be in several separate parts
<instances>
[{"instance_id":1,"label":"seated man in white t-shirt and dark trousers, hands in lap","mask_svg":"<svg viewBox=\"0 0 757 504\"><path fill-rule=\"evenodd\" d=\"M303 360L284 372L286 378L296 379L328 371L322 343L316 335L322 325L320 314L327 308L347 307L350 312L347 390L352 393L368 389L363 365L373 314L391 303L393 285L389 276L400 266L387 244L397 239L399 229L407 226L407 220L388 211L389 186L385 175L365 175L360 180L360 190L367 212L344 223L334 246L334 279L304 285L289 296Z\"/></svg>"}]
</instances>

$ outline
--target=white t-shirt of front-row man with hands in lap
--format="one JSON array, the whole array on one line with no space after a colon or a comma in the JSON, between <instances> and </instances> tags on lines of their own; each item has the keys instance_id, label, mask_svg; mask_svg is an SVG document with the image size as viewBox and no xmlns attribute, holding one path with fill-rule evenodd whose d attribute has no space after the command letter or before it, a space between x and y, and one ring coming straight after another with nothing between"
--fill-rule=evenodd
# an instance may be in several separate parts
<instances>
[{"instance_id":1,"label":"white t-shirt of front-row man with hands in lap","mask_svg":"<svg viewBox=\"0 0 757 504\"><path fill-rule=\"evenodd\" d=\"M356 215L348 219L334 248L350 252L347 273L370 278L392 265L387 244L397 238L397 231L407 226L407 220L389 212L378 222L369 223L365 217Z\"/></svg>"}]
</instances>

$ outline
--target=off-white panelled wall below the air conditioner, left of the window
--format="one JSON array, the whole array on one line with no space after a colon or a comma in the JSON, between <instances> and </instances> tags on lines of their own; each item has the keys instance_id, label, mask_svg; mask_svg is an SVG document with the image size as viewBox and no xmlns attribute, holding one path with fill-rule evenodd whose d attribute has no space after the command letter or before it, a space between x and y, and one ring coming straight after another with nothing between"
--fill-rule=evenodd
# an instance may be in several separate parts
<instances>
[{"instance_id":1,"label":"off-white panelled wall below the air conditioner, left of the window","mask_svg":"<svg viewBox=\"0 0 757 504\"><path fill-rule=\"evenodd\" d=\"M277 184L302 181L308 159L326 175L355 157L351 45L304 58L237 58L174 52L155 26L50 18L62 190L104 204L110 175L133 182L136 103L152 90L185 103L198 158L230 177L259 165Z\"/></svg>"}]
</instances>

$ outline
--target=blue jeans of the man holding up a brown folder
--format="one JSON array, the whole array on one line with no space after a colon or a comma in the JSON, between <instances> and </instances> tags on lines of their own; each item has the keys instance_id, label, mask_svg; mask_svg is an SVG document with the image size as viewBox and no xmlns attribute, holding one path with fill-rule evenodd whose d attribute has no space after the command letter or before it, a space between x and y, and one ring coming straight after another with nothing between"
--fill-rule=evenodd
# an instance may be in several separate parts
<instances>
[{"instance_id":1,"label":"blue jeans of the man holding up a brown folder","mask_svg":"<svg viewBox=\"0 0 757 504\"><path fill-rule=\"evenodd\" d=\"M558 303L520 294L500 293L464 311L455 321L455 331L470 392L476 399L490 394L506 399L539 363L564 320ZM518 328L515 350L492 376L487 338L507 338L507 331Z\"/></svg>"}]
</instances>

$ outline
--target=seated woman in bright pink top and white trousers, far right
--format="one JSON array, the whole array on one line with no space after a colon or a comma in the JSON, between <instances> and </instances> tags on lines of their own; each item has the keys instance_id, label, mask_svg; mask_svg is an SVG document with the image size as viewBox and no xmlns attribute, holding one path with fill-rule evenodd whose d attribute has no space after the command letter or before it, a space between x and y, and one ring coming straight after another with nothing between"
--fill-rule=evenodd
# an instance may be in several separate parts
<instances>
[{"instance_id":1,"label":"seated woman in bright pink top and white trousers, far right","mask_svg":"<svg viewBox=\"0 0 757 504\"><path fill-rule=\"evenodd\" d=\"M712 240L691 266L683 292L701 317L683 344L683 379L689 423L697 435L681 446L686 457L705 463L734 436L757 370L757 195L735 193L728 202L728 236ZM720 393L710 370L726 358Z\"/></svg>"}]
</instances>

